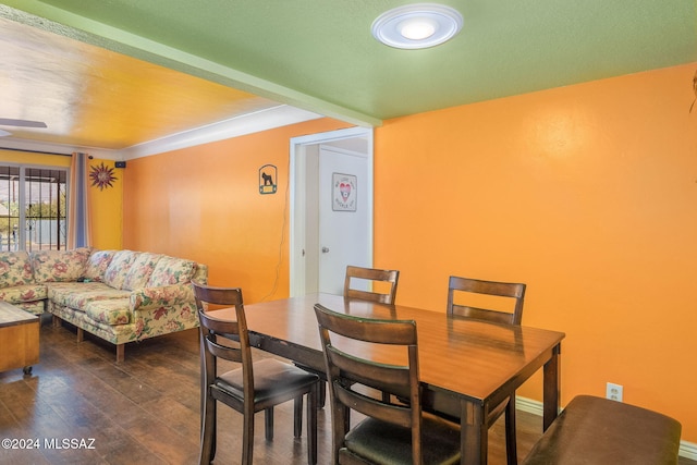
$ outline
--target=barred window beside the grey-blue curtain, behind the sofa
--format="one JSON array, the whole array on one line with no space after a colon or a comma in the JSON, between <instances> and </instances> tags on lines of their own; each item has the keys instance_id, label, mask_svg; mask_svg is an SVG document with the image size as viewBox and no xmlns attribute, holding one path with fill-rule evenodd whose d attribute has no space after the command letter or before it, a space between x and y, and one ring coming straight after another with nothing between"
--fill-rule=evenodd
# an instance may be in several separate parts
<instances>
[{"instance_id":1,"label":"barred window beside the grey-blue curtain, behind the sofa","mask_svg":"<svg viewBox=\"0 0 697 465\"><path fill-rule=\"evenodd\" d=\"M0 166L0 250L64 249L68 170Z\"/></svg>"}]
</instances>

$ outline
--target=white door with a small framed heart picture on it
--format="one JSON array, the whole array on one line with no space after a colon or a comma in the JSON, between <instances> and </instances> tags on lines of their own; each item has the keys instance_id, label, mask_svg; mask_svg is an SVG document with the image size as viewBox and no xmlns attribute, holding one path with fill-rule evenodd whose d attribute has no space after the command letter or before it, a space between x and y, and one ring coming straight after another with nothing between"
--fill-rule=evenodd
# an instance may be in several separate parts
<instances>
[{"instance_id":1,"label":"white door with a small framed heart picture on it","mask_svg":"<svg viewBox=\"0 0 697 465\"><path fill-rule=\"evenodd\" d=\"M367 184L365 155L320 147L318 292L342 294L346 266L370 266Z\"/></svg>"}]
</instances>

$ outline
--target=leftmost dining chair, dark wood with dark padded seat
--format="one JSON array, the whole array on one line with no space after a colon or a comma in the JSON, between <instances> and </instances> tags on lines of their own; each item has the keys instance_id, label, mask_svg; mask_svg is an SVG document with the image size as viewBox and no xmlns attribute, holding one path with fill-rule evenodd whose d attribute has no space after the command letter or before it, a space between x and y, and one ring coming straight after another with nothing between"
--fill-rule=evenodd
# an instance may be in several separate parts
<instances>
[{"instance_id":1,"label":"leftmost dining chair, dark wood with dark padded seat","mask_svg":"<svg viewBox=\"0 0 697 465\"><path fill-rule=\"evenodd\" d=\"M273 407L307 395L307 463L317 463L317 375L274 358L253 360L242 290L193 283L200 322L201 346L201 464L216 456L217 403L243 415L242 464L252 464L254 416L265 413L267 440L273 439ZM235 321L208 315L208 306L234 307ZM218 374L219 359L241 364ZM302 416L295 417L295 437Z\"/></svg>"}]
</instances>

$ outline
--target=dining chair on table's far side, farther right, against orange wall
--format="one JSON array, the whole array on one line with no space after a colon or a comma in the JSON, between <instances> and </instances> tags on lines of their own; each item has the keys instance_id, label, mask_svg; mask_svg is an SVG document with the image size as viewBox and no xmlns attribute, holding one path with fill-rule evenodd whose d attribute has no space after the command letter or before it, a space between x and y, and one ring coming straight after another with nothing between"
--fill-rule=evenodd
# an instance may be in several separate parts
<instances>
[{"instance_id":1,"label":"dining chair on table's far side, farther right, against orange wall","mask_svg":"<svg viewBox=\"0 0 697 465\"><path fill-rule=\"evenodd\" d=\"M523 304L525 301L523 283L485 281L472 278L450 277L448 284L448 315L453 318L474 318L496 323L519 326L523 320ZM465 304L462 298L474 297L492 298L487 306L509 305L508 309L491 309ZM455 302L460 303L455 303ZM504 302L508 301L508 302ZM491 305L494 304L494 305ZM517 445L515 435L515 393L491 409L487 417L491 427L505 412L505 450L509 465L517 463Z\"/></svg>"}]
</instances>

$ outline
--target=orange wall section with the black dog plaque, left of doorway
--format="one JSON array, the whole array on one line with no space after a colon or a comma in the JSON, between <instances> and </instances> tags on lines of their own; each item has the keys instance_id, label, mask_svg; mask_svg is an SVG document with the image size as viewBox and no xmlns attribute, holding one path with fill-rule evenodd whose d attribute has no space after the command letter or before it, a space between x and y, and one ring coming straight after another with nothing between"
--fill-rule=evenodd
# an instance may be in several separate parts
<instances>
[{"instance_id":1,"label":"orange wall section with the black dog plaque, left of doorway","mask_svg":"<svg viewBox=\"0 0 697 465\"><path fill-rule=\"evenodd\" d=\"M289 295L290 139L348 125L321 119L127 162L125 248L195 259L209 283L243 289L247 303ZM259 194L259 168L278 192Z\"/></svg>"}]
</instances>

